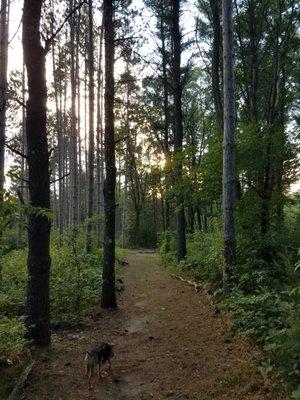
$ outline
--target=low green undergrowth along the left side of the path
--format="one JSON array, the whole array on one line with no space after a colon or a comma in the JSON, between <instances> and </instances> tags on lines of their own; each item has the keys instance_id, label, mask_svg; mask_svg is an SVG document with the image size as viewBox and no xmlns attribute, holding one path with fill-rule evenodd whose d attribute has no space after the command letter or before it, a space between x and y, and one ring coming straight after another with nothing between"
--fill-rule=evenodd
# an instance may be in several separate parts
<instances>
[{"instance_id":1,"label":"low green undergrowth along the left side of the path","mask_svg":"<svg viewBox=\"0 0 300 400\"><path fill-rule=\"evenodd\" d=\"M66 235L59 247L53 234L51 243L50 302L53 328L74 323L89 312L101 291L102 249L84 252L84 234ZM122 254L117 250L117 259ZM12 250L1 258L0 281L0 362L14 362L28 345L25 335L27 249ZM75 318L76 317L76 318Z\"/></svg>"}]
</instances>

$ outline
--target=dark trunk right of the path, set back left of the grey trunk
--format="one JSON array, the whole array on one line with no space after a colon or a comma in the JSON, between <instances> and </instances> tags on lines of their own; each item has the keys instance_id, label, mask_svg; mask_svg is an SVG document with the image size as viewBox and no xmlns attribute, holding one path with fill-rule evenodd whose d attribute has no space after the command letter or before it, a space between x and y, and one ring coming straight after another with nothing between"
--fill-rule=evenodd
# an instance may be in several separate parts
<instances>
[{"instance_id":1,"label":"dark trunk right of the path, set back left of the grey trunk","mask_svg":"<svg viewBox=\"0 0 300 400\"><path fill-rule=\"evenodd\" d=\"M182 84L180 71L181 58L181 33L179 29L179 0L173 1L173 90L174 90L174 158L175 158L175 182L179 183L182 179ZM176 219L177 219L177 260L180 261L186 257L186 238L185 238L185 215L182 193L177 195L176 199Z\"/></svg>"}]
</instances>

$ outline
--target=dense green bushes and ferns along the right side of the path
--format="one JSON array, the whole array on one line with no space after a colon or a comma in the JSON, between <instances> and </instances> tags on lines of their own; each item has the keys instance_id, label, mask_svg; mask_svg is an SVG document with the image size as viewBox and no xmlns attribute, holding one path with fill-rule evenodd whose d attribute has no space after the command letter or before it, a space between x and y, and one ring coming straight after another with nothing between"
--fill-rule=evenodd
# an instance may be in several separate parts
<instances>
[{"instance_id":1,"label":"dense green bushes and ferns along the right side of the path","mask_svg":"<svg viewBox=\"0 0 300 400\"><path fill-rule=\"evenodd\" d=\"M231 271L232 291L227 297L220 296L222 234L217 219L212 232L187 236L188 256L179 265L174 237L167 253L167 234L161 235L160 249L164 263L176 272L212 285L219 307L233 316L233 329L263 348L266 369L295 383L300 377L300 264L299 241L294 235L298 210L293 206L286 210L284 229L272 230L264 238L251 229L241 229L238 221L238 263Z\"/></svg>"}]
</instances>

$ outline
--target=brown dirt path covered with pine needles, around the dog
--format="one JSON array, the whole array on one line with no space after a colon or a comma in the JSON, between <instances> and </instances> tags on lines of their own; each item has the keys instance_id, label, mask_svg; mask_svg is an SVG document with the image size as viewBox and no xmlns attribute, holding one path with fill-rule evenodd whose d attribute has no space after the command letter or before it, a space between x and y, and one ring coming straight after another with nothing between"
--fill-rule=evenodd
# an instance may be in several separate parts
<instances>
[{"instance_id":1,"label":"brown dirt path covered with pine needles, around the dog","mask_svg":"<svg viewBox=\"0 0 300 400\"><path fill-rule=\"evenodd\" d=\"M119 308L95 308L75 330L56 332L36 351L23 400L284 399L260 369L260 352L235 336L200 291L170 277L156 254L127 252ZM113 342L112 372L93 392L86 349ZM277 391L277 394L276 394Z\"/></svg>"}]
</instances>

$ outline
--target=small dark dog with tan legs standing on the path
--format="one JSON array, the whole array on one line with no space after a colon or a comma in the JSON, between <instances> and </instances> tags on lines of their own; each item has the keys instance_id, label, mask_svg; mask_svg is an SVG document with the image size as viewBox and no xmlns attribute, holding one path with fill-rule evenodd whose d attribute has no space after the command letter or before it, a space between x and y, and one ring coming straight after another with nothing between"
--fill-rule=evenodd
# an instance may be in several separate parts
<instances>
[{"instance_id":1,"label":"small dark dog with tan legs standing on the path","mask_svg":"<svg viewBox=\"0 0 300 400\"><path fill-rule=\"evenodd\" d=\"M99 380L101 378L101 365L106 361L109 365L109 371L111 371L111 358L115 355L114 346L113 343L101 343L100 346L87 350L84 361L86 363L86 375L89 378L89 389L91 389L92 377L96 375L97 365Z\"/></svg>"}]
</instances>

